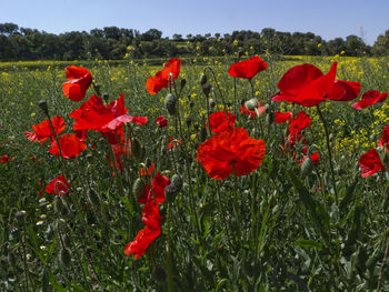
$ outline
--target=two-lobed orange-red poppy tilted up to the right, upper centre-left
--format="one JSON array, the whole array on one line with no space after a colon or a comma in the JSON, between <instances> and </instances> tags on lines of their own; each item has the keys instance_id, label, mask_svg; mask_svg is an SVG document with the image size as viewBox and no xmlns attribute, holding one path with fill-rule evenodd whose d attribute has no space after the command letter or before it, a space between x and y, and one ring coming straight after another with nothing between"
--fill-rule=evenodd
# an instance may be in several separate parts
<instances>
[{"instance_id":1,"label":"two-lobed orange-red poppy tilted up to the right, upper centre-left","mask_svg":"<svg viewBox=\"0 0 389 292\"><path fill-rule=\"evenodd\" d=\"M150 77L146 82L146 89L150 94L157 94L162 88L169 87L169 75L172 74L176 80L180 73L181 60L178 58L170 59L162 71Z\"/></svg>"}]
</instances>

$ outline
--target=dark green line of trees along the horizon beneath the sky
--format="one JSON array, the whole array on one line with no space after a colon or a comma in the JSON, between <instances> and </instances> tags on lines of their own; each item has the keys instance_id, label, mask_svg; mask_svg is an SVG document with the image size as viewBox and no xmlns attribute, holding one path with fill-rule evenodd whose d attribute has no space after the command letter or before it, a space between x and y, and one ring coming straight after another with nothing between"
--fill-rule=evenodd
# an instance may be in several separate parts
<instances>
[{"instance_id":1,"label":"dark green line of trees along the horizon beneath the sky","mask_svg":"<svg viewBox=\"0 0 389 292\"><path fill-rule=\"evenodd\" d=\"M281 32L265 28L232 33L173 34L162 31L104 27L60 34L0 23L0 60L119 60L151 57L225 56L238 50L250 54L266 52L285 56L389 56L389 30L378 36L373 46L358 36L326 41L312 32Z\"/></svg>"}]
</instances>

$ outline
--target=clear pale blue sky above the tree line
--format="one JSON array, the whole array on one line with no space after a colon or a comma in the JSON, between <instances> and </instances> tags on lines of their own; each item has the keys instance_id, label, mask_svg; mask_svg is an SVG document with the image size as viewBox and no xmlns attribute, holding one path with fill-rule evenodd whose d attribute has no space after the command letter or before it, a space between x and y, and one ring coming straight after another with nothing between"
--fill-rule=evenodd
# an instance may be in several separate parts
<instances>
[{"instance_id":1,"label":"clear pale blue sky above the tree line","mask_svg":"<svg viewBox=\"0 0 389 292\"><path fill-rule=\"evenodd\" d=\"M116 26L180 33L313 32L372 44L389 29L389 0L0 0L0 23L61 33Z\"/></svg>"}]
</instances>

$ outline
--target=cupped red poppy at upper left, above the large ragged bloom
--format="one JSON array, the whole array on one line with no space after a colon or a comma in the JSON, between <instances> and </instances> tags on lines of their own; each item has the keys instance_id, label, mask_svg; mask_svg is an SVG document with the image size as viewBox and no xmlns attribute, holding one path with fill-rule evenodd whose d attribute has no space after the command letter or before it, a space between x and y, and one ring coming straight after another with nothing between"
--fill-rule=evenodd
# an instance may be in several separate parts
<instances>
[{"instance_id":1,"label":"cupped red poppy at upper left, above the large ragged bloom","mask_svg":"<svg viewBox=\"0 0 389 292\"><path fill-rule=\"evenodd\" d=\"M82 100L92 83L92 74L87 69L76 66L68 66L64 73L69 81L62 83L63 94L72 101Z\"/></svg>"}]
</instances>

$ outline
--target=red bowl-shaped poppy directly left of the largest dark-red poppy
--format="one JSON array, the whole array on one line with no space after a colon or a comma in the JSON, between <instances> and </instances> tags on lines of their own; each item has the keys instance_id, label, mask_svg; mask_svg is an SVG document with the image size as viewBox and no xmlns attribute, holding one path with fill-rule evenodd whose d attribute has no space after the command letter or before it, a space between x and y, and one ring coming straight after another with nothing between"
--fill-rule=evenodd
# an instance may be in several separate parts
<instances>
[{"instance_id":1,"label":"red bowl-shaped poppy directly left of the largest dark-red poppy","mask_svg":"<svg viewBox=\"0 0 389 292\"><path fill-rule=\"evenodd\" d=\"M251 79L257 73L268 69L268 64L258 56L250 58L246 61L240 61L231 64L228 73L231 77Z\"/></svg>"}]
</instances>

